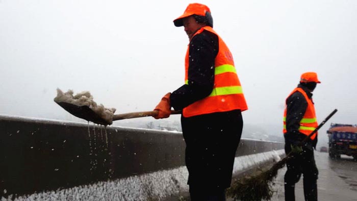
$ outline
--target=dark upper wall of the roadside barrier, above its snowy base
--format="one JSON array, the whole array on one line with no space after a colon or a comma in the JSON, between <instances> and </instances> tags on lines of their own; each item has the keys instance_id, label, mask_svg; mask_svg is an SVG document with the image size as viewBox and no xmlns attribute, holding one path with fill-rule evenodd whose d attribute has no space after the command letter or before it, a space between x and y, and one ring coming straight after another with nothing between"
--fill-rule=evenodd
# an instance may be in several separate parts
<instances>
[{"instance_id":1,"label":"dark upper wall of the roadside barrier, above its snowy base","mask_svg":"<svg viewBox=\"0 0 357 201\"><path fill-rule=\"evenodd\" d=\"M265 157L283 145L242 139L237 157ZM184 153L180 132L0 115L0 197L122 182L140 175L152 178L165 171L182 178L187 174ZM169 178L175 185L181 181Z\"/></svg>"}]
</instances>

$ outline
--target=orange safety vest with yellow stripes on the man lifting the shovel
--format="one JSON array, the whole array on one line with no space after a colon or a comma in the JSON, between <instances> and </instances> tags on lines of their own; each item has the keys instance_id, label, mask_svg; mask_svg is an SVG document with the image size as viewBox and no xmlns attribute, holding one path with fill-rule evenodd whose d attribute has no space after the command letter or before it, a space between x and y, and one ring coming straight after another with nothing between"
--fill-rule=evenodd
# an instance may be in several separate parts
<instances>
[{"instance_id":1,"label":"orange safety vest with yellow stripes on the man lifting the shovel","mask_svg":"<svg viewBox=\"0 0 357 201\"><path fill-rule=\"evenodd\" d=\"M202 33L203 30L212 32L218 36L209 26L198 30L196 34ZM209 114L213 112L226 112L240 109L247 110L244 94L241 83L238 79L236 68L230 50L218 36L219 52L215 58L215 76L214 86L211 94L183 109L184 117L191 117L201 114ZM188 82L188 68L189 68L189 49L188 46L185 59L185 84Z\"/></svg>"}]
</instances>

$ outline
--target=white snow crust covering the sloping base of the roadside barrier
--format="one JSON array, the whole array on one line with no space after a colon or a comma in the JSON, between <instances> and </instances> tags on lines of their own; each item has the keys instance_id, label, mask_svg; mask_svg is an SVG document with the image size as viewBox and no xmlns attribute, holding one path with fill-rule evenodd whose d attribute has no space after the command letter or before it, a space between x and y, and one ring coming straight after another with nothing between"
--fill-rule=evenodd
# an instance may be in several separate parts
<instances>
[{"instance_id":1,"label":"white snow crust covering the sloping base of the roadside barrier","mask_svg":"<svg viewBox=\"0 0 357 201\"><path fill-rule=\"evenodd\" d=\"M235 158L233 173L276 160L284 150L271 151ZM15 198L17 201L32 200L162 200L170 195L188 191L188 171L185 166L162 170L129 178L97 182L68 189L34 193ZM11 200L2 198L1 201Z\"/></svg>"}]
</instances>

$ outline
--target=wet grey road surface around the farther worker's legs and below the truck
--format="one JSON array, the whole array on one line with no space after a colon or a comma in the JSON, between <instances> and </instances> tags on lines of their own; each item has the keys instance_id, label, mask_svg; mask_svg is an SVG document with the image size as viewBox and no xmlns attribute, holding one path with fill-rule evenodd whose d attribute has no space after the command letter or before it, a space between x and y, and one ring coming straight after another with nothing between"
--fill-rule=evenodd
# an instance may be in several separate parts
<instances>
[{"instance_id":1,"label":"wet grey road surface around the farther worker's legs and below the truck","mask_svg":"<svg viewBox=\"0 0 357 201\"><path fill-rule=\"evenodd\" d=\"M315 152L319 169L318 200L356 201L357 200L357 161L352 157L341 156L332 160L327 153ZM274 193L271 200L281 201L284 197L284 174L286 167L279 170L275 179ZM295 187L296 201L304 200L302 177Z\"/></svg>"}]
</instances>

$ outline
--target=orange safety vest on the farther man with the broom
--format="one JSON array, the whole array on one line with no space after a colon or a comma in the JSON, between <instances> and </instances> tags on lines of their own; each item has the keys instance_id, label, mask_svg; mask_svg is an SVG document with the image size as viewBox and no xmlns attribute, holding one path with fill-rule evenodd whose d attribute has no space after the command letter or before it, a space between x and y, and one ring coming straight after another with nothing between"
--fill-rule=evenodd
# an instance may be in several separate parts
<instances>
[{"instance_id":1,"label":"orange safety vest on the farther man with the broom","mask_svg":"<svg viewBox=\"0 0 357 201\"><path fill-rule=\"evenodd\" d=\"M315 107L314 107L312 100L308 97L308 95L305 93L305 91L303 89L295 88L290 93L290 95L293 94L295 91L299 91L300 93L302 93L302 95L305 97L306 101L308 102L308 108L306 109L305 114L303 115L303 117L300 121L300 127L299 127L299 132L308 136L308 135L310 135L311 132L313 132L318 127L318 123L316 120ZM284 119L283 119L283 121L284 121L283 133L284 134L287 133L286 112L287 112L287 107L285 107ZM314 135L312 135L310 138L312 140L314 140L316 138L316 136L317 136L317 132Z\"/></svg>"}]
</instances>

